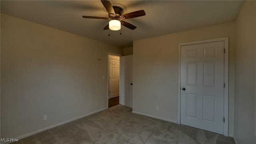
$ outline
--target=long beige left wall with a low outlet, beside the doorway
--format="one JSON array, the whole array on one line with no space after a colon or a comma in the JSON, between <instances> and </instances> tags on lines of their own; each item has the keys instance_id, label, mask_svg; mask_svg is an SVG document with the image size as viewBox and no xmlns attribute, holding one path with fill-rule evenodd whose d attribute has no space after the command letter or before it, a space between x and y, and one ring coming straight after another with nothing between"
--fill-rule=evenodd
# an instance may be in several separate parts
<instances>
[{"instance_id":1,"label":"long beige left wall with a low outlet, beside the doorway","mask_svg":"<svg viewBox=\"0 0 256 144\"><path fill-rule=\"evenodd\" d=\"M1 14L1 138L107 108L108 52L123 49Z\"/></svg>"}]
</instances>

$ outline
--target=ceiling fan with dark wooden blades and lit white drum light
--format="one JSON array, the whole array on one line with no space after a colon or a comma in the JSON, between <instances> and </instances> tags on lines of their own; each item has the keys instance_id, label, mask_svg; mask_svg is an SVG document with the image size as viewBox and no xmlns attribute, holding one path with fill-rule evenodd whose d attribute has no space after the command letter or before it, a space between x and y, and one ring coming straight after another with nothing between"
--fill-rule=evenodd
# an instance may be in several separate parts
<instances>
[{"instance_id":1,"label":"ceiling fan with dark wooden blades and lit white drum light","mask_svg":"<svg viewBox=\"0 0 256 144\"><path fill-rule=\"evenodd\" d=\"M120 6L112 6L110 1L108 0L101 0L104 8L108 12L108 18L104 17L98 17L98 16L82 16L83 18L94 18L94 19L104 19L104 20L110 20L110 22L105 26L104 30L120 30L121 24L125 26L126 28L129 28L131 30L134 30L137 28L136 26L123 21L123 19L128 19L128 18L136 18L140 16L145 16L146 13L144 10L138 10L136 12L131 12L128 14L124 14L124 9L121 8Z\"/></svg>"}]
</instances>

